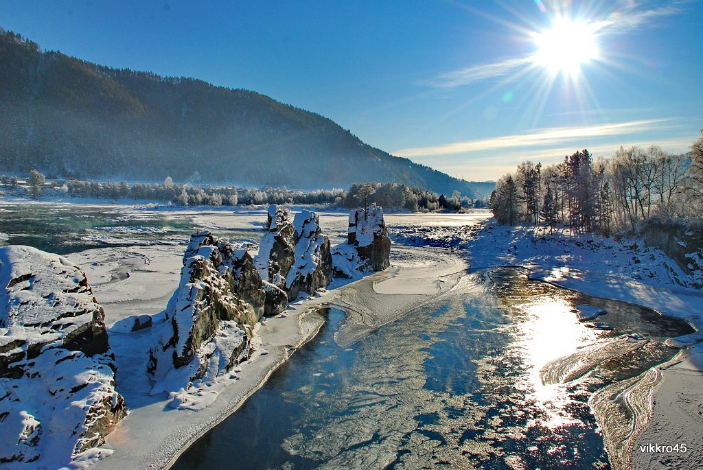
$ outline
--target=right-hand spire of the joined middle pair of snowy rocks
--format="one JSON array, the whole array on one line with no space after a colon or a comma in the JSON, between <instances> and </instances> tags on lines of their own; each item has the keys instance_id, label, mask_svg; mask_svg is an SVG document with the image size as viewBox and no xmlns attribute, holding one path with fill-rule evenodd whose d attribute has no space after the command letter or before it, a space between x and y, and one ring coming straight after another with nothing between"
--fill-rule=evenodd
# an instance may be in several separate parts
<instances>
[{"instance_id":1,"label":"right-hand spire of the joined middle pair of snowy rocks","mask_svg":"<svg viewBox=\"0 0 703 470\"><path fill-rule=\"evenodd\" d=\"M285 278L288 299L300 291L314 294L332 282L330 239L323 235L319 216L303 210L295 214L295 261Z\"/></svg>"}]
</instances>

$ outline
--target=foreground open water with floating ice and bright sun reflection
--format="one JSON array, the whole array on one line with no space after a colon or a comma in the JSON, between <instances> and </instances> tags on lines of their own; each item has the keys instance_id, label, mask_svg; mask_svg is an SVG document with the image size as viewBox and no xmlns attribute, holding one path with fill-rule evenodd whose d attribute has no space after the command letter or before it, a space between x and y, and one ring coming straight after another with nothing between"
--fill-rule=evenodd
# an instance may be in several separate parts
<instances>
[{"instance_id":1,"label":"foreground open water with floating ice and bright sun reflection","mask_svg":"<svg viewBox=\"0 0 703 470\"><path fill-rule=\"evenodd\" d=\"M614 331L579 323L581 303L607 308ZM608 469L591 393L673 357L662 341L691 331L518 269L467 275L344 348L344 312L320 314L316 339L173 469ZM649 341L621 337L634 332Z\"/></svg>"}]
</instances>

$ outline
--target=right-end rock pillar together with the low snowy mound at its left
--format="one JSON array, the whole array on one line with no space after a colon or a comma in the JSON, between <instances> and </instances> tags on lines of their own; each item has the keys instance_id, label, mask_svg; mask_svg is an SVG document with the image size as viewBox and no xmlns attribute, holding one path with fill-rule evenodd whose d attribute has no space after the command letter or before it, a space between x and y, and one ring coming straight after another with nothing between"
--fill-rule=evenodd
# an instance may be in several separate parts
<instances>
[{"instance_id":1,"label":"right-end rock pillar together with the low snowy mound at its left","mask_svg":"<svg viewBox=\"0 0 703 470\"><path fill-rule=\"evenodd\" d=\"M372 204L367 211L352 209L349 212L347 244L356 248L359 261L347 247L337 245L333 249L335 270L340 275L352 277L354 270L380 271L390 266L391 240L383 221L383 209ZM361 266L353 267L354 263Z\"/></svg>"}]
</instances>

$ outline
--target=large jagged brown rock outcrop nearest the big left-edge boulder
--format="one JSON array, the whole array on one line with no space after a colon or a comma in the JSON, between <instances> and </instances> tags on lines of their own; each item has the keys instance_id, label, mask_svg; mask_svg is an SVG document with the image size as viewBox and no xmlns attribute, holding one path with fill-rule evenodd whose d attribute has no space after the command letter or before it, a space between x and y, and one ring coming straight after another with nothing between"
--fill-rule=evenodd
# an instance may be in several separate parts
<instances>
[{"instance_id":1,"label":"large jagged brown rock outcrop nearest the big left-edge boulder","mask_svg":"<svg viewBox=\"0 0 703 470\"><path fill-rule=\"evenodd\" d=\"M209 232L191 235L181 282L166 308L148 372L152 393L214 379L252 353L252 327L266 311L266 289L245 249Z\"/></svg>"}]
</instances>

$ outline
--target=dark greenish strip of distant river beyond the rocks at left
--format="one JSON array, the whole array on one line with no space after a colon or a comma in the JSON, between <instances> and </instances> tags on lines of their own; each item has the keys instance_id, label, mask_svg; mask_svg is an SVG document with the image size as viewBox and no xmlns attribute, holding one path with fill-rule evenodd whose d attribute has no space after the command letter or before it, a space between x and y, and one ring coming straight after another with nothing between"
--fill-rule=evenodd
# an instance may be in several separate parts
<instances>
[{"instance_id":1,"label":"dark greenish strip of distant river beyond the rocks at left","mask_svg":"<svg viewBox=\"0 0 703 470\"><path fill-rule=\"evenodd\" d=\"M205 229L226 240L261 237L258 230L213 229L202 221L207 215L86 204L3 204L0 245L26 244L68 254L105 246L183 244L191 233Z\"/></svg>"}]
</instances>

